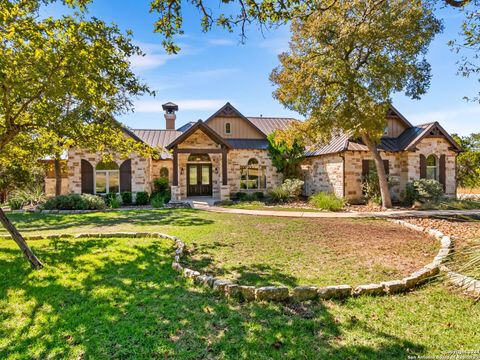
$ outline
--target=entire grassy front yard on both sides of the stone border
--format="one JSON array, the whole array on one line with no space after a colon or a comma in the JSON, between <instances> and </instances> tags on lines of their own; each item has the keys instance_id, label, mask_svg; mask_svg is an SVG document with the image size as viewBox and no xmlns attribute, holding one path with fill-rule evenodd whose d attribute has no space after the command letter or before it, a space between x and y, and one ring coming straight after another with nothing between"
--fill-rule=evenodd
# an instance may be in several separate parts
<instances>
[{"instance_id":1,"label":"entire grassy front yard on both sides of the stone border","mask_svg":"<svg viewBox=\"0 0 480 360\"><path fill-rule=\"evenodd\" d=\"M436 249L380 220L194 210L10 217L25 233L176 235L186 261L245 283L376 281L429 262ZM41 271L0 240L0 358L406 358L480 343L480 308L440 281L392 297L238 303L179 277L167 240L29 243Z\"/></svg>"}]
</instances>

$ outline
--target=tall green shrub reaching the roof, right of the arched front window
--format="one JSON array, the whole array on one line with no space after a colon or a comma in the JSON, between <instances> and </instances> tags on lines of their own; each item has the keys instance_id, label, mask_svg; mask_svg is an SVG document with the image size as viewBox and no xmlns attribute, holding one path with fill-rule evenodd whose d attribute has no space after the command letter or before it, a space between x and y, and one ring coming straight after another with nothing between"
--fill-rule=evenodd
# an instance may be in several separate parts
<instances>
[{"instance_id":1,"label":"tall green shrub reaching the roof, right of the arched front window","mask_svg":"<svg viewBox=\"0 0 480 360\"><path fill-rule=\"evenodd\" d=\"M268 156L273 166L285 178L298 176L298 167L305 158L305 146L303 141L296 136L295 131L279 131L268 135Z\"/></svg>"}]
</instances>

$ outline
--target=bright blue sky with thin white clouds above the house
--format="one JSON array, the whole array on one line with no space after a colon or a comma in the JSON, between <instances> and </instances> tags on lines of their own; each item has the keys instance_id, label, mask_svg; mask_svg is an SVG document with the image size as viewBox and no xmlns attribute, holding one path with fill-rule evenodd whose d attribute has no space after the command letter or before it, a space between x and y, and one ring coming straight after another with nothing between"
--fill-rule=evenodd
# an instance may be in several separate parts
<instances>
[{"instance_id":1,"label":"bright blue sky with thin white clouds above the house","mask_svg":"<svg viewBox=\"0 0 480 360\"><path fill-rule=\"evenodd\" d=\"M44 11L57 16L64 9L56 5ZM273 98L274 86L268 79L279 64L278 54L288 49L287 26L260 31L252 25L245 44L241 44L238 31L214 28L203 33L198 13L189 9L185 12L185 34L178 39L182 50L178 55L167 55L161 36L153 32L157 16L149 12L149 0L93 0L89 14L132 30L135 43L146 53L132 58L131 63L156 96L135 99L134 111L118 118L131 128L165 128L161 105L168 101L179 105L177 127L207 119L227 101L245 116L302 119ZM462 14L440 9L438 16L445 29L432 42L427 56L432 66L427 94L420 100L395 94L393 104L413 124L439 121L451 133L480 132L480 104L464 100L479 92L479 82L457 75L459 55L447 46L460 31Z\"/></svg>"}]
</instances>

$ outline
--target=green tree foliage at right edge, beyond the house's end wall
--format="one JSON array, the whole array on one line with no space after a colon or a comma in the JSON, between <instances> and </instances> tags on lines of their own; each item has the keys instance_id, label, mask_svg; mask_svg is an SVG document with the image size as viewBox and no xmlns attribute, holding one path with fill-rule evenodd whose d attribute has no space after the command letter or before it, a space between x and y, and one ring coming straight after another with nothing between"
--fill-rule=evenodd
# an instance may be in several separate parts
<instances>
[{"instance_id":1,"label":"green tree foliage at right edge, beyond the house's end wall","mask_svg":"<svg viewBox=\"0 0 480 360\"><path fill-rule=\"evenodd\" d=\"M457 156L457 184L464 188L480 187L480 133L469 136L453 135L465 150Z\"/></svg>"}]
</instances>

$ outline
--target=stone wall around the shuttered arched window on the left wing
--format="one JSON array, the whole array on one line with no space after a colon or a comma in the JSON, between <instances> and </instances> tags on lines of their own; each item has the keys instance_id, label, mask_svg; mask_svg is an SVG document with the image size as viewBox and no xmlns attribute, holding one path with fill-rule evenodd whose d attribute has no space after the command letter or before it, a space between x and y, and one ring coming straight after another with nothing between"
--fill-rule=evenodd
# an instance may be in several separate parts
<instances>
[{"instance_id":1,"label":"stone wall around the shuttered arched window on the left wing","mask_svg":"<svg viewBox=\"0 0 480 360\"><path fill-rule=\"evenodd\" d=\"M132 192L151 191L151 159L131 154L132 160ZM101 154L92 154L81 149L70 149L68 152L68 192L80 194L82 192L81 160L87 160L95 170L97 164L102 161ZM125 159L116 157L114 161L120 166Z\"/></svg>"}]
</instances>

